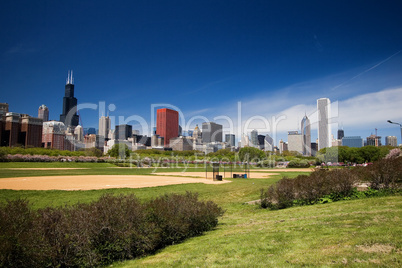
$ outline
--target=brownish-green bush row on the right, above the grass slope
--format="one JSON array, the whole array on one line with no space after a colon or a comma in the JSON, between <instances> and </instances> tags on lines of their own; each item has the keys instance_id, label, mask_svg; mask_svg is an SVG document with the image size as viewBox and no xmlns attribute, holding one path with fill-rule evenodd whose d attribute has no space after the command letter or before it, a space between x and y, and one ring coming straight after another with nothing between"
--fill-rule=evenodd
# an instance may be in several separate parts
<instances>
[{"instance_id":1,"label":"brownish-green bush row on the right, above the grass slope","mask_svg":"<svg viewBox=\"0 0 402 268\"><path fill-rule=\"evenodd\" d=\"M261 190L260 206L282 209L320 203L323 198L337 201L359 197L356 184L364 182L375 191L398 191L402 183L402 157L382 159L367 167L317 170L295 179L284 177L267 190Z\"/></svg>"}]
</instances>

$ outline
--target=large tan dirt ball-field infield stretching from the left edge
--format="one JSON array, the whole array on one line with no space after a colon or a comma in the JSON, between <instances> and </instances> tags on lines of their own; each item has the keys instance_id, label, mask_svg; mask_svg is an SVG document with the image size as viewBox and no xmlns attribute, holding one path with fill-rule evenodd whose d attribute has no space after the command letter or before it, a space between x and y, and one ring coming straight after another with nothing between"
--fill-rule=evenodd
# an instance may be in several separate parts
<instances>
[{"instance_id":1,"label":"large tan dirt ball-field infield stretching from the left edge","mask_svg":"<svg viewBox=\"0 0 402 268\"><path fill-rule=\"evenodd\" d=\"M147 176L147 175L80 175L43 176L0 179L0 189L10 190L97 190L110 188L143 188L171 184L205 183L222 184L230 181L213 181L205 178Z\"/></svg>"}]
</instances>

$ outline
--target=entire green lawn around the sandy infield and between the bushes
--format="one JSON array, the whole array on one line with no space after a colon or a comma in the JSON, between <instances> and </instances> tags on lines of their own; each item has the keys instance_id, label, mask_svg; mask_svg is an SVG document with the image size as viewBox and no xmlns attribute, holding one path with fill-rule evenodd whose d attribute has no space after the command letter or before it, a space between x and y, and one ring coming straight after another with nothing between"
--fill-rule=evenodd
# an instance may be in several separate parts
<instances>
[{"instance_id":1,"label":"entire green lawn around the sandy infield and between the bushes","mask_svg":"<svg viewBox=\"0 0 402 268\"><path fill-rule=\"evenodd\" d=\"M0 163L1 177L7 177L3 176L3 171L11 170L2 168L10 166L3 164L18 163ZM41 167L37 166L39 163L20 164L24 167L28 167L27 164L32 164L29 167ZM81 163L58 164L70 165L58 167L88 168L58 171L61 175L125 175L147 174L153 171L114 169L108 164L96 163L83 166L79 165ZM160 172L168 170L158 169ZM56 171L12 170L11 173L21 176L21 172L31 175L40 173L40 176L43 176ZM282 174L294 177L298 173ZM191 191L198 192L201 200L212 200L226 210L215 230L169 246L152 256L115 263L113 267L402 266L401 196L342 201L278 211L244 204L258 199L260 189L275 183L282 174L269 179L230 179L231 183L220 185L197 183L93 191L0 190L0 202L23 197L39 208L89 202L104 193L134 193L140 199L147 200L164 193Z\"/></svg>"}]
</instances>

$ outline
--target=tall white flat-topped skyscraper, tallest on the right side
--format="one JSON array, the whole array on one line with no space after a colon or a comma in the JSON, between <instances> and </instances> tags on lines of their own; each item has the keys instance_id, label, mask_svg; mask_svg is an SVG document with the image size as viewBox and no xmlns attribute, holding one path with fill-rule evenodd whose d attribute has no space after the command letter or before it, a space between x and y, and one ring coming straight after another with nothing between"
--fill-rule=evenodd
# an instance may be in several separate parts
<instances>
[{"instance_id":1,"label":"tall white flat-topped skyscraper, tallest on the right side","mask_svg":"<svg viewBox=\"0 0 402 268\"><path fill-rule=\"evenodd\" d=\"M318 150L331 147L331 126L329 118L331 115L331 103L328 98L317 100L318 113Z\"/></svg>"}]
</instances>

